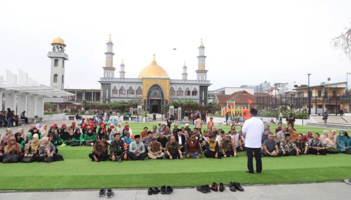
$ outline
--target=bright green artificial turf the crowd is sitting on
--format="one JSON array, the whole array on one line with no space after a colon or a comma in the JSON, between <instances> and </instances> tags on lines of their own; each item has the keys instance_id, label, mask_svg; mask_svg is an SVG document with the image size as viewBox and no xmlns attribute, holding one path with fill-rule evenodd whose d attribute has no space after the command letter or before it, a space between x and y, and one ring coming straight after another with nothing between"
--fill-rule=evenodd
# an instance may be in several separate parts
<instances>
[{"instance_id":1,"label":"bright green artificial turf the crowd is sitting on","mask_svg":"<svg viewBox=\"0 0 351 200\"><path fill-rule=\"evenodd\" d=\"M144 126L130 124L135 135ZM272 125L274 132L276 125ZM225 130L229 130L229 126ZM238 128L239 129L239 128ZM298 132L322 132L323 128L296 126ZM330 130L330 128L329 128ZM0 163L0 189L48 190L80 188L135 188L172 185L175 187L210 184L213 181L238 181L242 184L320 182L341 180L351 175L351 156L343 153L264 157L261 174L248 174L246 154L238 157L184 160L105 161L88 157L92 147L59 147L64 161L52 163Z\"/></svg>"}]
</instances>

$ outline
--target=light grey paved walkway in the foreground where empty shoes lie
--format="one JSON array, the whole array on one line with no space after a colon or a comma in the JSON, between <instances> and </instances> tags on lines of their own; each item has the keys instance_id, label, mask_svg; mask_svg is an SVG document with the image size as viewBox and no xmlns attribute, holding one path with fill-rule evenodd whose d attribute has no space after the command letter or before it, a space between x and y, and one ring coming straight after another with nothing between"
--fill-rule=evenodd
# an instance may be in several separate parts
<instances>
[{"instance_id":1,"label":"light grey paved walkway in the foreground where empty shoes lie","mask_svg":"<svg viewBox=\"0 0 351 200\"><path fill-rule=\"evenodd\" d=\"M147 195L147 189L114 189L115 195L111 199L350 199L351 185L343 182L307 183L307 184L277 184L277 185L242 185L245 191L232 192L226 187L224 192L211 191L201 193L195 188L173 190L173 193ZM55 192L7 192L0 193L2 200L21 199L103 199L98 197L98 191L55 191Z\"/></svg>"}]
</instances>

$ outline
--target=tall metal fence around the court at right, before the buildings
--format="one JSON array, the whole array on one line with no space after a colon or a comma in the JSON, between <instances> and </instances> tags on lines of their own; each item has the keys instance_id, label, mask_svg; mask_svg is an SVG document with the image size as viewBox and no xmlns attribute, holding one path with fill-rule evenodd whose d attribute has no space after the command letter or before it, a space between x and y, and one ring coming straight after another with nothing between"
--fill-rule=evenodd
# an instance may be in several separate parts
<instances>
[{"instance_id":1,"label":"tall metal fence around the court at right, before the buildings","mask_svg":"<svg viewBox=\"0 0 351 200\"><path fill-rule=\"evenodd\" d=\"M327 110L328 113L339 112L340 104L344 105L344 112L349 112L351 101L351 94L347 92L344 95L337 96L311 96L311 113L323 113ZM294 109L308 111L309 99L308 92L290 92L284 94L258 96L258 109L271 110L275 108L285 109L290 106Z\"/></svg>"}]
</instances>

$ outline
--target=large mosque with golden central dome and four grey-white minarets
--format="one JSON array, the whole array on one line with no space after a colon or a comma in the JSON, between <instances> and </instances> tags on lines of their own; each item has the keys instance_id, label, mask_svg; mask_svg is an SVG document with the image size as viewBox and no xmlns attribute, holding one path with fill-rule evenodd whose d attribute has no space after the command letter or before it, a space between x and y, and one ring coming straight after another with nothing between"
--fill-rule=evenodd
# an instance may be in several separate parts
<instances>
[{"instance_id":1,"label":"large mosque with golden central dome and four grey-white minarets","mask_svg":"<svg viewBox=\"0 0 351 200\"><path fill-rule=\"evenodd\" d=\"M125 77L125 65L120 64L119 77L115 76L113 66L113 43L111 35L106 43L106 63L103 66L103 77L100 77L100 102L137 99L140 104L146 105L149 112L161 113L161 106L172 100L195 100L207 104L208 87L205 68L205 46L201 40L199 46L198 69L195 71L196 80L188 80L187 65L184 63L182 79L170 79L167 71L157 64L155 54L151 64L145 66L137 78ZM127 68L127 67L126 67Z\"/></svg>"}]
</instances>

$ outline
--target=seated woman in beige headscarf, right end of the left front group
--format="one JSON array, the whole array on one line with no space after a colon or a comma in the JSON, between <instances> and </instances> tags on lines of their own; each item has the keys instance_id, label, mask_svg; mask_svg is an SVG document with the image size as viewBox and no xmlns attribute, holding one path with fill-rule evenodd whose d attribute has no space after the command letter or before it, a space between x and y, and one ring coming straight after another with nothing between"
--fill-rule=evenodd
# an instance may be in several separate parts
<instances>
[{"instance_id":1,"label":"seated woman in beige headscarf, right end of the left front group","mask_svg":"<svg viewBox=\"0 0 351 200\"><path fill-rule=\"evenodd\" d=\"M49 141L49 137L43 137L40 141L40 146L38 149L38 161L44 161L45 157L52 157L53 161L61 161L63 160L62 155L57 154L56 148L53 143Z\"/></svg>"}]
</instances>

